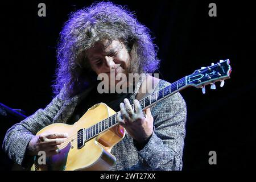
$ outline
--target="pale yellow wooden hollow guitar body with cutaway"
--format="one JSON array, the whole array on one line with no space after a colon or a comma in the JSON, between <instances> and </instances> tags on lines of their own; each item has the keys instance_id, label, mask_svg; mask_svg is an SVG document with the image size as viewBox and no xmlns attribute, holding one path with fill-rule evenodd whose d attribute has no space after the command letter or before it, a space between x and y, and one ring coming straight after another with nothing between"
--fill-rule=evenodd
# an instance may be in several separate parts
<instances>
[{"instance_id":1,"label":"pale yellow wooden hollow guitar body with cutaway","mask_svg":"<svg viewBox=\"0 0 256 182\"><path fill-rule=\"evenodd\" d=\"M104 103L91 107L76 123L67 125L64 123L53 123L40 130L36 135L44 132L68 133L69 138L60 153L47 157L46 164L38 164L39 157L36 157L31 170L109 170L115 163L115 156L110 154L113 146L125 137L125 129L116 125L85 142L82 148L77 144L77 131L88 128L94 124L115 114ZM73 136L73 137L72 137Z\"/></svg>"}]
</instances>

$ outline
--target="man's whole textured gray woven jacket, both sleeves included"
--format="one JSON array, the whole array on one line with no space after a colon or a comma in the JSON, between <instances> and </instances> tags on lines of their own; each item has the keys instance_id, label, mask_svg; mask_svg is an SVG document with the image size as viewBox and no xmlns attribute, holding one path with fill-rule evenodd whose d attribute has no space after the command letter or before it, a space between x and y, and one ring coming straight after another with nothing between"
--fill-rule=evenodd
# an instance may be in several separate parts
<instances>
[{"instance_id":1,"label":"man's whole textured gray woven jacket, both sleeves included","mask_svg":"<svg viewBox=\"0 0 256 182\"><path fill-rule=\"evenodd\" d=\"M163 89L169 84L160 80L158 86ZM27 144L34 135L52 123L65 123L87 93L88 90L69 100L63 100L62 91L45 109L39 109L11 127L3 142L3 149L9 158L23 164ZM130 103L134 100L135 93L131 94ZM117 158L112 170L181 170L187 117L185 101L180 93L175 93L152 106L151 113L154 118L154 133L150 140L138 151L133 138L126 134L112 149L112 154Z\"/></svg>"}]
</instances>

